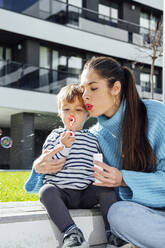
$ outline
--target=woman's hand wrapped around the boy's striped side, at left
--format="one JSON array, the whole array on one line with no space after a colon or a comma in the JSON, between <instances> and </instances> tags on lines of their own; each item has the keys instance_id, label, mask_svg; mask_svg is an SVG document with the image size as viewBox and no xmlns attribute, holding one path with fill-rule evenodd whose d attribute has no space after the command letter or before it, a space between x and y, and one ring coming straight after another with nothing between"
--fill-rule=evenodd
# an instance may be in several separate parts
<instances>
[{"instance_id":1,"label":"woman's hand wrapped around the boy's striped side, at left","mask_svg":"<svg viewBox=\"0 0 165 248\"><path fill-rule=\"evenodd\" d=\"M37 173L52 174L60 171L65 163L65 158L53 159L52 157L63 149L62 146L52 150L45 150L39 158L34 161L34 169Z\"/></svg>"}]
</instances>

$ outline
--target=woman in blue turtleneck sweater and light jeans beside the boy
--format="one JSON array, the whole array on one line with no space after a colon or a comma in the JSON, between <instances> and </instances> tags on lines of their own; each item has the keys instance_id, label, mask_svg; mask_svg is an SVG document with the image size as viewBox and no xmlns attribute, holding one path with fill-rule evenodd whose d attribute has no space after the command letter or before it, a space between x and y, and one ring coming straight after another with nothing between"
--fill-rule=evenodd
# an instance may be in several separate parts
<instances>
[{"instance_id":1,"label":"woman in blue turtleneck sweater and light jeans beside the boy","mask_svg":"<svg viewBox=\"0 0 165 248\"><path fill-rule=\"evenodd\" d=\"M165 105L141 100L131 71L109 57L88 61L83 99L104 163L98 186L115 187L108 212L114 235L141 248L165 247Z\"/></svg>"}]
</instances>

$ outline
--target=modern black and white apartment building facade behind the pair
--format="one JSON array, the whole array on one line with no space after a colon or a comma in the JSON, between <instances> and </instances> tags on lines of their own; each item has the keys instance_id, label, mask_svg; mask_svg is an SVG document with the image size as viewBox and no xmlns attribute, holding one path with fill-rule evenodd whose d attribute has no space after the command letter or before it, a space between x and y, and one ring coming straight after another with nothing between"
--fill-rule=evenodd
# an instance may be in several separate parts
<instances>
[{"instance_id":1,"label":"modern black and white apartment building facade behind the pair","mask_svg":"<svg viewBox=\"0 0 165 248\"><path fill-rule=\"evenodd\" d=\"M61 125L56 95L79 82L93 56L111 56L151 98L151 30L163 0L0 0L0 169L29 169L47 134ZM162 58L154 99L162 101ZM6 142L13 143L10 148Z\"/></svg>"}]
</instances>

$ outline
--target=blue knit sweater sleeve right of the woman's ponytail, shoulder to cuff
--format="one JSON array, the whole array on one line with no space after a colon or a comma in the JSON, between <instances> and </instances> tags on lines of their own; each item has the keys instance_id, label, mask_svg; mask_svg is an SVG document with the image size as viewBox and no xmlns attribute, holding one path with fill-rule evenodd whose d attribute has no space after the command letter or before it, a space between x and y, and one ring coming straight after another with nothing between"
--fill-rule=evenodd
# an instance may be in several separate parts
<instances>
[{"instance_id":1,"label":"blue knit sweater sleeve right of the woman's ponytail, shoulder to cuff","mask_svg":"<svg viewBox=\"0 0 165 248\"><path fill-rule=\"evenodd\" d=\"M122 200L162 208L165 207L165 106L157 105L158 108L151 106L152 111L148 110L148 140L156 157L156 171L121 170L128 187L119 187L119 195Z\"/></svg>"}]
</instances>

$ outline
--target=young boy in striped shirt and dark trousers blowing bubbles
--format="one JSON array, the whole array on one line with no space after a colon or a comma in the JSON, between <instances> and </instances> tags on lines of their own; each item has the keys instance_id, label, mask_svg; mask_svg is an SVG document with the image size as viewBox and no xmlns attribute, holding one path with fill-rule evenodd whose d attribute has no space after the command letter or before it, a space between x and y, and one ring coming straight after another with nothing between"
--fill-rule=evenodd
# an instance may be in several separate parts
<instances>
[{"instance_id":1,"label":"young boy in striped shirt and dark trousers blowing bubbles","mask_svg":"<svg viewBox=\"0 0 165 248\"><path fill-rule=\"evenodd\" d=\"M92 208L100 203L105 229L108 232L110 227L107 212L116 201L113 189L92 184L93 154L99 153L100 149L95 136L82 129L88 118L82 94L78 84L61 89L58 94L58 111L64 128L54 129L43 145L43 152L62 145L63 150L53 158L66 157L65 165L59 172L43 176L43 186L39 192L40 201L51 220L64 233L62 248L89 247L68 209ZM37 173L32 173L25 185L25 189L31 193L35 192L38 184L35 174Z\"/></svg>"}]
</instances>

